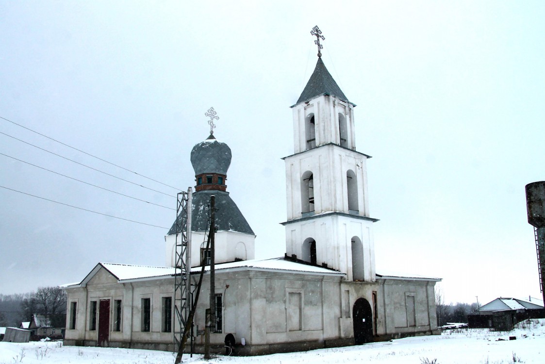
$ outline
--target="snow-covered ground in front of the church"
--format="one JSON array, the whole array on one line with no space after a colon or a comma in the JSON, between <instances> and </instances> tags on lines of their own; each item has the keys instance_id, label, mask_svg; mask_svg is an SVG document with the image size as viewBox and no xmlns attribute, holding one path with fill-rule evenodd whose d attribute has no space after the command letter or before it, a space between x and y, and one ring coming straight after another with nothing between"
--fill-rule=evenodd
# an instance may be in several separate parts
<instances>
[{"instance_id":1,"label":"snow-covered ground in front of the church","mask_svg":"<svg viewBox=\"0 0 545 364\"><path fill-rule=\"evenodd\" d=\"M516 340L509 340L515 336ZM201 355L184 355L192 363L539 363L545 362L545 319L521 323L511 332L486 329L455 329L441 336L421 336L371 343L347 348L320 349L304 353L252 357L218 356L203 360ZM63 347L55 342L25 344L0 342L0 364L167 364L172 353L153 350Z\"/></svg>"}]
</instances>

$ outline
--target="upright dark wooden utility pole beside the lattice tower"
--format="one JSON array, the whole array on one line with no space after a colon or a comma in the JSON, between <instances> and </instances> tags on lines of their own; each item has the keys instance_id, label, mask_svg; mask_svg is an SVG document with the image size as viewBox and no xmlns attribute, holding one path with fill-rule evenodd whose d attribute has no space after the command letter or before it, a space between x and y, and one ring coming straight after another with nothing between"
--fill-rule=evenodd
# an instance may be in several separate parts
<instances>
[{"instance_id":1,"label":"upright dark wooden utility pole beside the lattice tower","mask_svg":"<svg viewBox=\"0 0 545 364\"><path fill-rule=\"evenodd\" d=\"M210 238L210 308L206 310L206 325L204 327L204 359L209 360L210 357L210 332L216 331L213 329L216 320L216 292L215 292L215 235L216 235L216 196L210 196L210 230L208 232Z\"/></svg>"}]
</instances>

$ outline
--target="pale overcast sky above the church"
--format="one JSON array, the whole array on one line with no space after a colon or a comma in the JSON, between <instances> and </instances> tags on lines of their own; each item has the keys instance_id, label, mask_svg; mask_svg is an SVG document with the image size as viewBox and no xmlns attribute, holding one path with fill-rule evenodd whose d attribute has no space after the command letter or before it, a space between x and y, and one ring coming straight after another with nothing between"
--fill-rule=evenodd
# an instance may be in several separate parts
<instances>
[{"instance_id":1,"label":"pale overcast sky above the church","mask_svg":"<svg viewBox=\"0 0 545 364\"><path fill-rule=\"evenodd\" d=\"M356 149L373 156L377 272L441 277L447 302L539 298L524 186L545 180L543 19L541 1L0 0L0 117L175 187L0 119L0 186L159 226L0 188L0 293L81 281L98 262L164 265L175 218L12 157L175 208L210 106L256 257L282 256L281 157L318 25L358 105Z\"/></svg>"}]
</instances>

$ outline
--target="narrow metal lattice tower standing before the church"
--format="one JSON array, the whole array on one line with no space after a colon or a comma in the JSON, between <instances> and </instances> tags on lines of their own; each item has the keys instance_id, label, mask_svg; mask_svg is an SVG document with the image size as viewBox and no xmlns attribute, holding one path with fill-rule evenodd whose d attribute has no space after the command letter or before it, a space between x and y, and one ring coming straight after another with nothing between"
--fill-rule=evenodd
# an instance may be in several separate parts
<instances>
[{"instance_id":1,"label":"narrow metal lattice tower standing before the church","mask_svg":"<svg viewBox=\"0 0 545 364\"><path fill-rule=\"evenodd\" d=\"M178 350L181 337L191 310L191 206L193 190L178 193L176 204L176 252L174 265L174 351ZM177 325L176 325L177 323Z\"/></svg>"}]
</instances>

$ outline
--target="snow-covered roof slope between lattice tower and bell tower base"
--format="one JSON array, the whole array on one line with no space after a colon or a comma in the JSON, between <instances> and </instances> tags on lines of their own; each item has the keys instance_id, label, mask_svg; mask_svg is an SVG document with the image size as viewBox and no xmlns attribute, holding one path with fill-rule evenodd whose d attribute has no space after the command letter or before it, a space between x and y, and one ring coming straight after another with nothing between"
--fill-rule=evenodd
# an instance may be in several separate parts
<instances>
[{"instance_id":1,"label":"snow-covered roof slope between lattice tower and bell tower base","mask_svg":"<svg viewBox=\"0 0 545 364\"><path fill-rule=\"evenodd\" d=\"M343 276L344 273L322 268L321 266L316 265L307 265L297 262L292 262L286 260L283 257L280 258L271 258L271 259L252 259L252 260L241 260L240 262L232 263L223 263L216 264L215 270L231 269L231 270L240 270L251 268L253 270L276 270L276 271L288 271L288 272L304 272L310 274L319 274L319 275L337 275ZM200 272L202 267L191 268L191 272ZM205 271L210 270L210 266L207 265L204 268Z\"/></svg>"}]
</instances>

